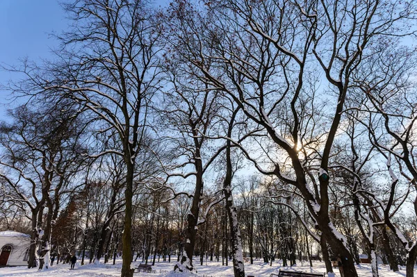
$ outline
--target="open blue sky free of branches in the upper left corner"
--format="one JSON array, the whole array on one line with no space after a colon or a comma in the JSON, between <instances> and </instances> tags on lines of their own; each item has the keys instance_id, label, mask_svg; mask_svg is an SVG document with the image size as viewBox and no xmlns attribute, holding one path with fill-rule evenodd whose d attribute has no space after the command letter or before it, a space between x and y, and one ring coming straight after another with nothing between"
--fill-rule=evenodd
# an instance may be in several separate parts
<instances>
[{"instance_id":1,"label":"open blue sky free of branches in the upper left corner","mask_svg":"<svg viewBox=\"0 0 417 277\"><path fill-rule=\"evenodd\" d=\"M58 42L49 36L63 31L69 21L59 0L0 0L0 63L19 65L19 58L38 61L51 56ZM157 4L168 0L156 0ZM0 83L6 84L15 74L0 70ZM6 110L17 103L10 103L9 92L0 88L0 120Z\"/></svg>"}]
</instances>

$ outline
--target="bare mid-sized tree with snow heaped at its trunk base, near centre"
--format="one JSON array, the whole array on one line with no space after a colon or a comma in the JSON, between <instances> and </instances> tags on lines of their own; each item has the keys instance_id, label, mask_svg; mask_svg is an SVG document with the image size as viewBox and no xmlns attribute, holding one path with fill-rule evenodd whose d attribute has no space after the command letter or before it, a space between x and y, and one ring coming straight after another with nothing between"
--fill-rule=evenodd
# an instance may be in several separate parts
<instances>
[{"instance_id":1,"label":"bare mid-sized tree with snow heaped at its trunk base, near centre","mask_svg":"<svg viewBox=\"0 0 417 277\"><path fill-rule=\"evenodd\" d=\"M173 160L179 160L177 165L167 167L171 172L169 178L194 178L195 188L191 197L193 202L187 215L184 251L177 267L193 270L193 253L199 222L200 204L204 193L204 173L213 162L216 152L211 151L208 135L213 128L213 119L219 108L218 92L208 90L204 82L188 83L193 78L192 70L186 67L169 67L172 76L173 89L165 94L167 105L159 110L162 122L172 133L167 135L170 143L169 151ZM175 134L175 135L173 135ZM213 156L214 155L214 156ZM186 173L173 173L175 170L192 168Z\"/></svg>"}]
</instances>

